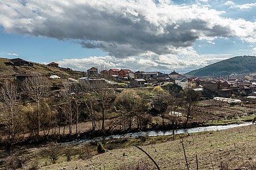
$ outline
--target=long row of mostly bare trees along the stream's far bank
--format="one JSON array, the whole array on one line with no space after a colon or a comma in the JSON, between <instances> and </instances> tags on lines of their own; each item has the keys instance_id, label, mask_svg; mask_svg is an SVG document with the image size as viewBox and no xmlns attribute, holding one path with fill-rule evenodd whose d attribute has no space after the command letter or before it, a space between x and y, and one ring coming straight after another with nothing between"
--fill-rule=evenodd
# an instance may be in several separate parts
<instances>
[{"instance_id":1,"label":"long row of mostly bare trees along the stream's far bank","mask_svg":"<svg viewBox=\"0 0 256 170\"><path fill-rule=\"evenodd\" d=\"M97 86L93 86L92 83L96 83ZM56 128L59 129L57 134L61 134L61 128L64 134L66 126L69 134L74 133L74 125L75 133L79 133L79 122L88 121L88 118L92 123L92 133L96 130L105 133L106 113L117 114L113 124L108 126L109 129L141 129L151 122L150 111L154 107L154 101L163 107L159 111L163 125L164 120L169 118L175 128L176 118L169 116L168 113L176 112L179 108L183 108L187 114L187 125L193 103L198 97L192 90L182 93L173 90L166 92L161 87L155 87L152 91L155 94L154 99L148 99L142 92L135 90L117 92L103 79L86 81L82 86L65 82L59 92L50 91L50 87L49 80L40 75L31 76L23 82L2 82L0 118L6 130L6 141L10 145L20 137L20 134L23 137L30 134L38 140L42 135L56 133Z\"/></svg>"}]
</instances>

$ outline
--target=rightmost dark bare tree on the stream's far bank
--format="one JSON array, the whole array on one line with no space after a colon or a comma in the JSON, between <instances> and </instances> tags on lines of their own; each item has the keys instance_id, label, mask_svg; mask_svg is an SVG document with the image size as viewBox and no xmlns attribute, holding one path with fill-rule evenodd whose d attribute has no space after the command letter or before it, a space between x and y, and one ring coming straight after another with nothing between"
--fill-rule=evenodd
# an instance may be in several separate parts
<instances>
[{"instance_id":1,"label":"rightmost dark bare tree on the stream's far bank","mask_svg":"<svg viewBox=\"0 0 256 170\"><path fill-rule=\"evenodd\" d=\"M187 116L187 119L185 121L185 126L187 126L189 117L191 116L191 112L195 108L195 104L199 99L200 94L199 92L194 91L192 89L187 89L187 90L184 90L183 97L184 97L184 108Z\"/></svg>"}]
</instances>

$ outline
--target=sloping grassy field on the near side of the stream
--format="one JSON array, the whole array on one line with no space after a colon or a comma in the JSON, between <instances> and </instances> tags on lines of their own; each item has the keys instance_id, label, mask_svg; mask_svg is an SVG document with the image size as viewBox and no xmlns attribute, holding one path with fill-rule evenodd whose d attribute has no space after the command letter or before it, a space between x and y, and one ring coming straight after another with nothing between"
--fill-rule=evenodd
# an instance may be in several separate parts
<instances>
[{"instance_id":1,"label":"sloping grassy field on the near side of the stream","mask_svg":"<svg viewBox=\"0 0 256 170\"><path fill-rule=\"evenodd\" d=\"M256 166L256 126L243 126L208 133L195 133L187 136L172 136L112 139L102 141L108 152L97 154L96 146L92 148L94 156L87 160L79 158L82 150L88 145L68 146L73 151L71 162L67 162L62 156L56 164L52 164L46 155L44 146L27 146L16 148L20 155L39 161L40 169L119 169L121 165L147 162L151 164L147 156L133 144L143 148L152 156L160 169L186 169L184 151L181 140L184 143L189 167L196 169L196 155L199 169L220 169L221 163L228 164L229 169L247 166L248 169ZM63 148L67 146L63 146ZM4 155L1 151L0 155ZM249 165L250 164L250 165ZM24 168L26 169L26 168Z\"/></svg>"}]
</instances>

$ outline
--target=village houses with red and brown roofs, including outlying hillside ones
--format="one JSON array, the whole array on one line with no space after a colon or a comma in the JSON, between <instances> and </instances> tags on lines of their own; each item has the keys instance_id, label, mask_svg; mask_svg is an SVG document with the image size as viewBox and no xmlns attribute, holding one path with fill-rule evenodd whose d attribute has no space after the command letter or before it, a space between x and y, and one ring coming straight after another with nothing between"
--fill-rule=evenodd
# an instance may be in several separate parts
<instances>
[{"instance_id":1,"label":"village houses with red and brown roofs, including outlying hillside ones","mask_svg":"<svg viewBox=\"0 0 256 170\"><path fill-rule=\"evenodd\" d=\"M34 63L20 58L10 59L10 63L15 66L33 66ZM51 62L47 66L59 67L56 62ZM60 67L59 67L60 68ZM135 73L129 69L109 69L102 70L100 74L96 67L87 70L87 77L79 79L79 82L97 82L107 81L106 79L98 79L98 75L108 75L117 79L129 79L131 87L146 87L147 83L155 82L174 82L178 86L185 88L193 88L196 91L209 91L214 92L221 97L230 97L235 95L251 95L256 92L256 80L249 79L203 79L203 78L186 78L185 76L177 73L175 70L170 74L160 72L145 72L136 71ZM23 80L27 75L17 75L16 78ZM59 77L58 77L59 78ZM77 80L76 80L77 81ZM95 84L95 83L92 83Z\"/></svg>"}]
</instances>

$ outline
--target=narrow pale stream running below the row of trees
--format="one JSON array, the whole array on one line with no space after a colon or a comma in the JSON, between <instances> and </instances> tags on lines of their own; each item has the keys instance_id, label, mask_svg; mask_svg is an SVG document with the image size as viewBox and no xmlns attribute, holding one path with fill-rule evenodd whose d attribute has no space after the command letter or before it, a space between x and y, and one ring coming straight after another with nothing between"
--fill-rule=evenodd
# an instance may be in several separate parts
<instances>
[{"instance_id":1,"label":"narrow pale stream running below the row of trees","mask_svg":"<svg viewBox=\"0 0 256 170\"><path fill-rule=\"evenodd\" d=\"M236 128L239 126L249 126L251 123L245 124L231 124L231 125L218 125L218 126L204 126L198 128L189 128L189 129L176 129L175 134L185 134L185 133L197 133L202 131L217 131L217 130L225 130L230 128ZM92 142L92 141L100 141L102 139L119 139L119 138L136 138L136 137L155 137L155 136L162 136L162 135L172 135L172 130L151 130L151 131L139 131L137 133L126 133L126 134L117 134L117 135L110 135L107 137L98 137L92 139L80 139L79 141L67 142L63 143L64 145L71 144L71 145L79 145L82 143Z\"/></svg>"}]
</instances>

